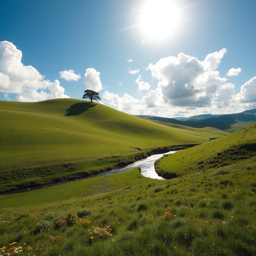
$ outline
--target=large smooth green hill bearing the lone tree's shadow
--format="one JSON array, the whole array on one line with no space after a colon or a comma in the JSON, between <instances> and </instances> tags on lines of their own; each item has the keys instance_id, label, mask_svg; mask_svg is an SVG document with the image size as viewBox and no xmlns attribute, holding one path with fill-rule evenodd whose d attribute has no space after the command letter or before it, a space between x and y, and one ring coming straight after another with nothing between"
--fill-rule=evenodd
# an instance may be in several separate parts
<instances>
[{"instance_id":1,"label":"large smooth green hill bearing the lone tree's shadow","mask_svg":"<svg viewBox=\"0 0 256 256\"><path fill-rule=\"evenodd\" d=\"M0 119L2 191L90 175L134 162L155 148L198 144L222 136L216 130L167 127L74 99L0 101Z\"/></svg>"}]
</instances>

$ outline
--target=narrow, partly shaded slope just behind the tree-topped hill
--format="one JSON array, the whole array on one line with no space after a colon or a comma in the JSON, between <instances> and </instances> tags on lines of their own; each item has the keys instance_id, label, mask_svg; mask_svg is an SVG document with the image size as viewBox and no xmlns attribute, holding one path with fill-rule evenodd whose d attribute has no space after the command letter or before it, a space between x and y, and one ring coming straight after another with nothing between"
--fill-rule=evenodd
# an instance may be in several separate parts
<instances>
[{"instance_id":1,"label":"narrow, partly shaded slope just behind the tree-topped hill","mask_svg":"<svg viewBox=\"0 0 256 256\"><path fill-rule=\"evenodd\" d=\"M136 115L139 118L143 118L145 120L150 120L159 124L167 125L170 127L175 127L178 129L185 129L190 131L197 131L197 132L211 132L216 134L222 134L227 135L227 132L224 132L222 130L209 127L208 124L201 124L201 123L193 123L193 122L183 122L176 120L174 118L165 118L165 117L159 117L159 116L150 116L150 115Z\"/></svg>"}]
</instances>

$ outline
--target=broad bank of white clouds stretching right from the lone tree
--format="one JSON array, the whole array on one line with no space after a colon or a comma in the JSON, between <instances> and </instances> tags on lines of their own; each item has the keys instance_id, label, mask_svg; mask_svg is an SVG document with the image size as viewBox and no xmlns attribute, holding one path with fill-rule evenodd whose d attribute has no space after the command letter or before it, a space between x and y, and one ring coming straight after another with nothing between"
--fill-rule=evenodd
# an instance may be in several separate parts
<instances>
[{"instance_id":1,"label":"broad bank of white clouds stretching right from the lone tree","mask_svg":"<svg viewBox=\"0 0 256 256\"><path fill-rule=\"evenodd\" d=\"M256 77L241 86L235 93L235 85L221 77L218 66L226 53L223 48L208 54L200 61L184 53L168 56L150 63L146 68L157 81L157 87L145 93L141 99L125 93L123 97L105 91L103 104L129 114L158 115L165 117L232 113L256 108ZM230 69L227 76L236 76L241 68ZM135 80L138 90L149 90L150 85ZM128 104L127 102L130 102Z\"/></svg>"}]
</instances>

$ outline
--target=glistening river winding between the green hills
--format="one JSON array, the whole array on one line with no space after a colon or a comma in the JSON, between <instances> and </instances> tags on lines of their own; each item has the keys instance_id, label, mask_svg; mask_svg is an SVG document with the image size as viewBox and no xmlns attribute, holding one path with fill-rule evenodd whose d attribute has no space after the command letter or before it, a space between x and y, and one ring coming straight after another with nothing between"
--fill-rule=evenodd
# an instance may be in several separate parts
<instances>
[{"instance_id":1,"label":"glistening river winding between the green hills","mask_svg":"<svg viewBox=\"0 0 256 256\"><path fill-rule=\"evenodd\" d=\"M81 177L81 178L77 178L77 179L73 179L73 180L61 180L59 182L52 182L52 183L49 183L49 184L46 184L46 185L32 187L32 188L16 189L16 190L8 191L8 192L5 192L5 193L1 193L0 195L18 194L18 193L38 190L38 189L41 189L41 188L52 187L52 186L61 185L61 184L65 184L65 183L75 182L75 181L82 180L82 179L105 176L105 175L114 174L114 173L122 173L122 172L130 170L134 167L139 167L139 166L141 167L141 174L143 176L148 177L148 178L152 178L152 179L163 180L164 178L157 175L157 173L155 171L154 163L157 159L161 158L163 155L173 154L175 152L177 152L177 151L170 151L170 152L167 152L167 153L164 153L164 154L151 155L151 156L149 156L145 159L138 160L138 161L134 162L133 164L116 167L116 168L113 168L110 171L104 171L104 172L94 174L94 175L90 175L90 176L87 176L87 177Z\"/></svg>"}]
</instances>

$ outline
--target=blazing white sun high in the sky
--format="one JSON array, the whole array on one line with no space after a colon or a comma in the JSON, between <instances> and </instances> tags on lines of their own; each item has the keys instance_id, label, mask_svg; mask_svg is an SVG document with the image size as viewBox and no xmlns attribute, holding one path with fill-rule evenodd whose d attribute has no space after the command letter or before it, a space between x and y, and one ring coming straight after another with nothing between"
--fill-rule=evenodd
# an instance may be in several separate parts
<instances>
[{"instance_id":1,"label":"blazing white sun high in the sky","mask_svg":"<svg viewBox=\"0 0 256 256\"><path fill-rule=\"evenodd\" d=\"M150 39L167 38L180 26L179 8L170 0L144 2L139 18L142 32Z\"/></svg>"}]
</instances>

